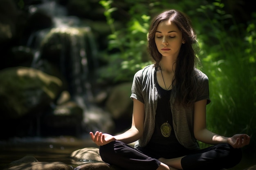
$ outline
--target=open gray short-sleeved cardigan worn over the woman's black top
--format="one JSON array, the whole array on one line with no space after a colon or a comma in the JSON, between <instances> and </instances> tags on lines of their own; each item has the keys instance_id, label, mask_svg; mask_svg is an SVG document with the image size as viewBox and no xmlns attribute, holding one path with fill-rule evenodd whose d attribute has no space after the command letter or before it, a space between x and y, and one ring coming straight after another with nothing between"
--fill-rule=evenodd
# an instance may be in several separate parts
<instances>
[{"instance_id":1,"label":"open gray short-sleeved cardigan worn over the woman's black top","mask_svg":"<svg viewBox=\"0 0 256 170\"><path fill-rule=\"evenodd\" d=\"M155 115L157 108L157 88L155 83L154 65L146 66L134 75L132 83L131 99L138 99L144 103L145 120L143 136L135 143L137 146L144 147L148 144L154 129ZM196 69L198 77L198 90L196 101L207 99L209 104L209 81L207 75ZM172 101L173 103L173 101ZM173 128L177 140L188 149L199 149L197 140L193 133L193 106L190 108L171 106L173 114Z\"/></svg>"}]
</instances>

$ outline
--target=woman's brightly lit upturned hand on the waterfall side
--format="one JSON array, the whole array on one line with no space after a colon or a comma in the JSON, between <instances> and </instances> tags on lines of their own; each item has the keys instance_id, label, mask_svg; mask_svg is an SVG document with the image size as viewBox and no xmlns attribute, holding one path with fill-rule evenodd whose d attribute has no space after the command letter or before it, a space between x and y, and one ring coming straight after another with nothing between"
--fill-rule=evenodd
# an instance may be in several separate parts
<instances>
[{"instance_id":1,"label":"woman's brightly lit upturned hand on the waterfall side","mask_svg":"<svg viewBox=\"0 0 256 170\"><path fill-rule=\"evenodd\" d=\"M92 138L92 141L94 141L94 143L97 144L98 146L103 146L116 140L115 137L113 137L112 135L102 133L99 131L96 131L95 134L90 132L90 136Z\"/></svg>"}]
</instances>

